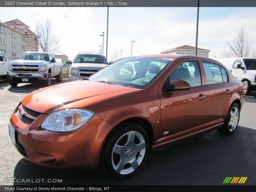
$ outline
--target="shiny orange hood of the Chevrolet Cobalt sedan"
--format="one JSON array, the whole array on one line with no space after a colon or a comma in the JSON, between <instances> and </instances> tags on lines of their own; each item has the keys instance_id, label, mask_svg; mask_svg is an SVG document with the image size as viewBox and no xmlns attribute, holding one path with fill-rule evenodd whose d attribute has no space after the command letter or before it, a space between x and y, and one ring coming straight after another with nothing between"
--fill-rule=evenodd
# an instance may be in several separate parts
<instances>
[{"instance_id":1,"label":"shiny orange hood of the Chevrolet Cobalt sedan","mask_svg":"<svg viewBox=\"0 0 256 192\"><path fill-rule=\"evenodd\" d=\"M81 108L94 102L140 89L93 81L73 81L38 89L21 102L34 111L49 114L66 108Z\"/></svg>"}]
</instances>

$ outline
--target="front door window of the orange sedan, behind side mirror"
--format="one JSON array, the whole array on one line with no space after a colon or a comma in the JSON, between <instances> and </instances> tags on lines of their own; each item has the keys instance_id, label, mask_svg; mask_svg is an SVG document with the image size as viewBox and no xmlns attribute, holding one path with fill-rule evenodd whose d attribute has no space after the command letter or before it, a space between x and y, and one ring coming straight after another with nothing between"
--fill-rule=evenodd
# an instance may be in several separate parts
<instances>
[{"instance_id":1,"label":"front door window of the orange sedan, behind side mirror","mask_svg":"<svg viewBox=\"0 0 256 192\"><path fill-rule=\"evenodd\" d=\"M201 73L197 61L187 61L180 64L170 75L167 81L172 82L175 79L186 81L190 87L202 85ZM169 82L168 82L169 83Z\"/></svg>"}]
</instances>

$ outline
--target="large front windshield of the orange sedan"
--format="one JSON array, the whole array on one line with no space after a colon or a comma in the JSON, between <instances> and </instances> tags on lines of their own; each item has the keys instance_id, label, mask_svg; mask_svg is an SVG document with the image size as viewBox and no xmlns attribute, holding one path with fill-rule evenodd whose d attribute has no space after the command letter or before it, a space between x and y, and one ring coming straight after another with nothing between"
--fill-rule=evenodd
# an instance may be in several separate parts
<instances>
[{"instance_id":1,"label":"large front windshield of the orange sedan","mask_svg":"<svg viewBox=\"0 0 256 192\"><path fill-rule=\"evenodd\" d=\"M158 57L124 58L101 69L87 80L144 89L163 72L172 60Z\"/></svg>"}]
</instances>

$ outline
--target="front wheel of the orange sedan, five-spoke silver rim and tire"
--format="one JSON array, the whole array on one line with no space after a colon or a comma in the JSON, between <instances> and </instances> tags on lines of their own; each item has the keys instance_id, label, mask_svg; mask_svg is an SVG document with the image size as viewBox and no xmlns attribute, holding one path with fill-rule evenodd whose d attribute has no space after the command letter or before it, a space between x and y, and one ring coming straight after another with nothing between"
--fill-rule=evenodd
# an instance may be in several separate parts
<instances>
[{"instance_id":1,"label":"front wheel of the orange sedan, five-spoke silver rim and tire","mask_svg":"<svg viewBox=\"0 0 256 192\"><path fill-rule=\"evenodd\" d=\"M106 140L100 158L101 170L115 179L127 179L145 163L149 152L147 132L136 123L119 125Z\"/></svg>"}]
</instances>

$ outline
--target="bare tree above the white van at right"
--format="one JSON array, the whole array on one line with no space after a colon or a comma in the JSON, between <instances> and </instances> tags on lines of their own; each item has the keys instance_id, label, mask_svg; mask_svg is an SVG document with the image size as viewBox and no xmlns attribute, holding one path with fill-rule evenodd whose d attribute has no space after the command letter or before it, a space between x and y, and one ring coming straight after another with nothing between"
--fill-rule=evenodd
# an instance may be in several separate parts
<instances>
[{"instance_id":1,"label":"bare tree above the white van at right","mask_svg":"<svg viewBox=\"0 0 256 192\"><path fill-rule=\"evenodd\" d=\"M228 41L228 50L224 50L222 54L225 57L250 57L255 55L252 42L244 31L242 26L236 31L233 41Z\"/></svg>"}]
</instances>

